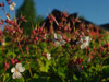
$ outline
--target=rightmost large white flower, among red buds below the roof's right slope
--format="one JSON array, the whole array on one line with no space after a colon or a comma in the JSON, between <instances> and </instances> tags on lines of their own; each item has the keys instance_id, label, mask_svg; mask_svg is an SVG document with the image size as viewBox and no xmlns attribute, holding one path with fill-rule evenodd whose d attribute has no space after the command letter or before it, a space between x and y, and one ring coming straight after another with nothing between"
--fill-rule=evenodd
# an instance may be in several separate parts
<instances>
[{"instance_id":1,"label":"rightmost large white flower, among red buds below the roof's right slope","mask_svg":"<svg viewBox=\"0 0 109 82\"><path fill-rule=\"evenodd\" d=\"M83 36L80 42L76 42L76 44L82 44L81 49L85 49L89 45L90 40L90 36Z\"/></svg>"}]
</instances>

